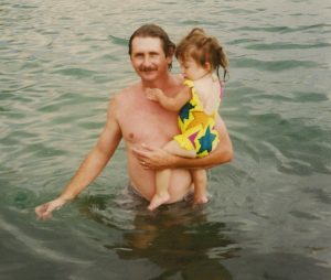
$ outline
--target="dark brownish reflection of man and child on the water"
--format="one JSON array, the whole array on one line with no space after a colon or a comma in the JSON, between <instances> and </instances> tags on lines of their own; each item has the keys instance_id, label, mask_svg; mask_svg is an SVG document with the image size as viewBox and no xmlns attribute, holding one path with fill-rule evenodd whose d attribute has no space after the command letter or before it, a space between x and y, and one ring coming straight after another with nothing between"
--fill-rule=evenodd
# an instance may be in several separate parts
<instances>
[{"instance_id":1,"label":"dark brownish reflection of man and child on the water","mask_svg":"<svg viewBox=\"0 0 331 280\"><path fill-rule=\"evenodd\" d=\"M107 197L88 197L81 203L79 211L107 227L120 226L114 220L116 211L108 208L106 201ZM207 220L203 207L193 208L191 202L183 202L163 205L150 213L146 209L147 202L128 196L120 198L119 204L120 212L132 216L131 228L121 230L120 240L104 247L122 260L148 259L157 265L160 272L150 279L179 276L183 279L233 279L220 259L238 256L238 245L227 236L225 224Z\"/></svg>"}]
</instances>

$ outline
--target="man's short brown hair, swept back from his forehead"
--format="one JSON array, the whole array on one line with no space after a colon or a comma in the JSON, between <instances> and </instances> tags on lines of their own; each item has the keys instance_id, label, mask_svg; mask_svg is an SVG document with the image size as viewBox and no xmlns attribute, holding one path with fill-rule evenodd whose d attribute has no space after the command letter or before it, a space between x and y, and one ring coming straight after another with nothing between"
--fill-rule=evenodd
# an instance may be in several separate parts
<instances>
[{"instance_id":1,"label":"man's short brown hair, swept back from his forehead","mask_svg":"<svg viewBox=\"0 0 331 280\"><path fill-rule=\"evenodd\" d=\"M132 41L135 37L159 37L166 56L168 57L174 53L175 44L170 41L167 32L156 24L145 24L134 32L129 40L129 55L132 53ZM171 64L169 68L171 68Z\"/></svg>"}]
</instances>

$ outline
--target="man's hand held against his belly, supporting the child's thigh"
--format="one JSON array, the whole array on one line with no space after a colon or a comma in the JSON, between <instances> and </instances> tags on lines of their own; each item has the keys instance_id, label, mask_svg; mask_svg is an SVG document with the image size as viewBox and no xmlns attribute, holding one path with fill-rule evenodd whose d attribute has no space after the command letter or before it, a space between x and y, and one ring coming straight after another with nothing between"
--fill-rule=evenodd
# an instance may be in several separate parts
<instances>
[{"instance_id":1,"label":"man's hand held against his belly, supporting the child's thigh","mask_svg":"<svg viewBox=\"0 0 331 280\"><path fill-rule=\"evenodd\" d=\"M134 148L132 152L143 169L161 170L175 168L175 155L170 154L161 148L141 144L139 149Z\"/></svg>"}]
</instances>

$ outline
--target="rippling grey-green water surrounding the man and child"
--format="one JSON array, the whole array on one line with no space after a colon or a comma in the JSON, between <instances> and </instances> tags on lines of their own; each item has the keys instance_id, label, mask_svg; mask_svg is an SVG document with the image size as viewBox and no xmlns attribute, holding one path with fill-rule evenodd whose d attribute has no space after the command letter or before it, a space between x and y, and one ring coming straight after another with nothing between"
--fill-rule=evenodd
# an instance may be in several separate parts
<instances>
[{"instance_id":1,"label":"rippling grey-green water surrounding the man and child","mask_svg":"<svg viewBox=\"0 0 331 280\"><path fill-rule=\"evenodd\" d=\"M331 279L330 14L327 0L1 0L0 279ZM147 22L224 43L235 160L210 172L206 207L149 214L122 198L120 146L36 220L137 78L127 40Z\"/></svg>"}]
</instances>

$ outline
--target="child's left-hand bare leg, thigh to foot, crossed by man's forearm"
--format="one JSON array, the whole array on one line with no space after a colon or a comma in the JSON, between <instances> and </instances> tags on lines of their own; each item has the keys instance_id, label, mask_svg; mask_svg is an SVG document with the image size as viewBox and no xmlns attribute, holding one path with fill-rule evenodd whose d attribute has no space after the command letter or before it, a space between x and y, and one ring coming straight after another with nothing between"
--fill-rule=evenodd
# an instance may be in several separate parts
<instances>
[{"instance_id":1,"label":"child's left-hand bare leg, thigh to foot, crossed by man's forearm","mask_svg":"<svg viewBox=\"0 0 331 280\"><path fill-rule=\"evenodd\" d=\"M177 154L180 157L195 158L195 151L184 150L175 141L168 142L163 147L163 149L169 153ZM148 209L153 211L170 200L170 195L168 192L170 176L171 176L170 169L157 171L156 174L157 192L151 198Z\"/></svg>"}]
</instances>

